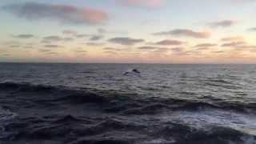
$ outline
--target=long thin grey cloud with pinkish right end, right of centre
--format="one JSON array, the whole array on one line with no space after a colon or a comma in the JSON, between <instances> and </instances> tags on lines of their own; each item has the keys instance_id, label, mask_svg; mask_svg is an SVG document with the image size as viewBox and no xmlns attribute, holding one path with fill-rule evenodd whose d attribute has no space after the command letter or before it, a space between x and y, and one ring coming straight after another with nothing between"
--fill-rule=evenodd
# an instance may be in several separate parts
<instances>
[{"instance_id":1,"label":"long thin grey cloud with pinkish right end, right of centre","mask_svg":"<svg viewBox=\"0 0 256 144\"><path fill-rule=\"evenodd\" d=\"M194 31L194 30L188 30L188 29L176 29L176 30L154 33L154 35L176 35L176 36L186 36L191 38L209 38L210 32Z\"/></svg>"}]
</instances>

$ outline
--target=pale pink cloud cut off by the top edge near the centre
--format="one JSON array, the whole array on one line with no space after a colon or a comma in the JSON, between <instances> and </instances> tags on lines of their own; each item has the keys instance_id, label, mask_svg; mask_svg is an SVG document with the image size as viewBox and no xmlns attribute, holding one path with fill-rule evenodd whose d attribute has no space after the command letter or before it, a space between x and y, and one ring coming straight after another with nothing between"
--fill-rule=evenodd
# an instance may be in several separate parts
<instances>
[{"instance_id":1,"label":"pale pink cloud cut off by the top edge near the centre","mask_svg":"<svg viewBox=\"0 0 256 144\"><path fill-rule=\"evenodd\" d=\"M165 0L116 0L123 6L146 6L158 7L162 6Z\"/></svg>"}]
</instances>

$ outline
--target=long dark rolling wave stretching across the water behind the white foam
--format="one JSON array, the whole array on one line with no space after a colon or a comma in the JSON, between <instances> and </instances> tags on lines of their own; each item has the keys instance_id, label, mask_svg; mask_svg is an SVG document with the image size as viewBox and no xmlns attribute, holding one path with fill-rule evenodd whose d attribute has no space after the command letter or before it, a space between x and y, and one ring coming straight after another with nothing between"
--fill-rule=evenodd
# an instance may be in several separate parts
<instances>
[{"instance_id":1,"label":"long dark rolling wave stretching across the water behind the white foam","mask_svg":"<svg viewBox=\"0 0 256 144\"><path fill-rule=\"evenodd\" d=\"M124 94L118 91L70 88L66 86L33 85L27 82L3 82L0 90L11 90L13 93L32 93L30 98L36 102L69 102L70 104L94 103L106 106L106 111L132 114L132 111L144 114L155 110L198 110L200 108L218 108L252 112L256 103L242 102L205 102L190 99L140 97L138 94ZM36 93L34 95L33 93ZM43 97L38 97L42 94ZM34 97L36 96L36 97Z\"/></svg>"}]
</instances>

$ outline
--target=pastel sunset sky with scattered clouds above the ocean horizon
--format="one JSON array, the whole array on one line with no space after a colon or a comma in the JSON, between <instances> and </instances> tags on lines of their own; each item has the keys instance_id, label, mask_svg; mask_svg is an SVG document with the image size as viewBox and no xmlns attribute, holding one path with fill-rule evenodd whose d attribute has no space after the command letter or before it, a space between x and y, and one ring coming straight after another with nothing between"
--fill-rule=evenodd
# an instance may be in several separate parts
<instances>
[{"instance_id":1,"label":"pastel sunset sky with scattered clouds above the ocean horizon","mask_svg":"<svg viewBox=\"0 0 256 144\"><path fill-rule=\"evenodd\" d=\"M1 0L0 62L256 63L256 0Z\"/></svg>"}]
</instances>

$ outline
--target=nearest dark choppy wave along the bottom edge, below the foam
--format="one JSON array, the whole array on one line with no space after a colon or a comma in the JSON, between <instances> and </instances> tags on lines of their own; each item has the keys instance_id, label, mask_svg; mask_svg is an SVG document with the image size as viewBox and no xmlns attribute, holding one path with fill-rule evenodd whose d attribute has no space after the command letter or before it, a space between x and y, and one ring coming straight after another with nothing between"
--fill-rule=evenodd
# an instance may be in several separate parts
<instances>
[{"instance_id":1,"label":"nearest dark choppy wave along the bottom edge, below the foam","mask_svg":"<svg viewBox=\"0 0 256 144\"><path fill-rule=\"evenodd\" d=\"M44 142L58 143L248 143L254 144L253 135L222 126L211 126L209 130L198 130L190 126L166 122L127 122L122 118L76 118L71 115L52 116L54 118L18 119L6 125L12 131L2 142ZM35 141L35 142L34 142Z\"/></svg>"}]
</instances>

